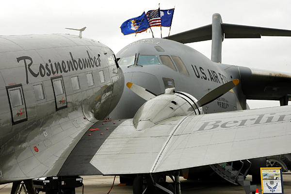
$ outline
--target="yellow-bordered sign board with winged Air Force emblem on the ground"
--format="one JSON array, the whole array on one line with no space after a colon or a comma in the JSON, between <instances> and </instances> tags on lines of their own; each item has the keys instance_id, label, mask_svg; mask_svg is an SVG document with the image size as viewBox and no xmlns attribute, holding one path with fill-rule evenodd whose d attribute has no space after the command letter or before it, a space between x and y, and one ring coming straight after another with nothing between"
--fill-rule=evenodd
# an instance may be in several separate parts
<instances>
[{"instance_id":1,"label":"yellow-bordered sign board with winged Air Force emblem on the ground","mask_svg":"<svg viewBox=\"0 0 291 194\"><path fill-rule=\"evenodd\" d=\"M282 169L260 168L262 194L284 194Z\"/></svg>"}]
</instances>

